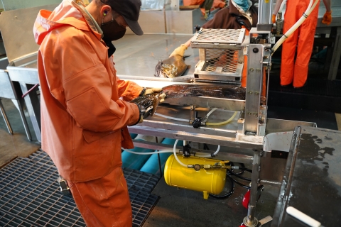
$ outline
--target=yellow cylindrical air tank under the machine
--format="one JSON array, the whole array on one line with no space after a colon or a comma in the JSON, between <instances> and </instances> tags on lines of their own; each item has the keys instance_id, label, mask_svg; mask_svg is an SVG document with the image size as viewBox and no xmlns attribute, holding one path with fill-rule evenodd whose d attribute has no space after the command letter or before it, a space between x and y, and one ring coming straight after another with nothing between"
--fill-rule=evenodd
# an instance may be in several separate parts
<instances>
[{"instance_id":1,"label":"yellow cylindrical air tank under the machine","mask_svg":"<svg viewBox=\"0 0 341 227\"><path fill-rule=\"evenodd\" d=\"M218 162L204 157L178 155L178 158L185 165L215 165ZM171 155L165 165L164 177L168 185L203 192L204 199L208 199L209 193L220 194L222 192L226 180L226 169L195 171L192 168L183 167L174 155Z\"/></svg>"}]
</instances>

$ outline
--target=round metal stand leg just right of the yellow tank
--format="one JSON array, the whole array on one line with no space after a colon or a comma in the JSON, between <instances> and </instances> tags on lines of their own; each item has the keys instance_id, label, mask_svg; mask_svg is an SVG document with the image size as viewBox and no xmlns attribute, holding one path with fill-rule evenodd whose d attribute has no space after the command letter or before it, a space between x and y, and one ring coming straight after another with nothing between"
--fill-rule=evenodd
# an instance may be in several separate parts
<instances>
[{"instance_id":1,"label":"round metal stand leg just right of the yellow tank","mask_svg":"<svg viewBox=\"0 0 341 227\"><path fill-rule=\"evenodd\" d=\"M254 227L258 226L259 221L254 216L257 201L257 187L259 179L259 167L261 166L261 151L254 151L254 163L252 165L252 175L251 175L251 191L250 191L250 201L249 209L247 210L247 216L244 218L243 222L245 226Z\"/></svg>"}]
</instances>

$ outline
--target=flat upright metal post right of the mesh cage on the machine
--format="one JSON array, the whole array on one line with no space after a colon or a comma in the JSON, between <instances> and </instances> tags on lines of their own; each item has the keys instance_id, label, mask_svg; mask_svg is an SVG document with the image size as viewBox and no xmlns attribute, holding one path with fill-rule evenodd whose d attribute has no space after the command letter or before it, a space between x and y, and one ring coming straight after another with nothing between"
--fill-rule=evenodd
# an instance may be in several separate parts
<instances>
[{"instance_id":1,"label":"flat upright metal post right of the mesh cage on the machine","mask_svg":"<svg viewBox=\"0 0 341 227\"><path fill-rule=\"evenodd\" d=\"M245 134L257 134L259 105L263 81L264 45L250 44L247 57L247 96L245 105Z\"/></svg>"}]
</instances>

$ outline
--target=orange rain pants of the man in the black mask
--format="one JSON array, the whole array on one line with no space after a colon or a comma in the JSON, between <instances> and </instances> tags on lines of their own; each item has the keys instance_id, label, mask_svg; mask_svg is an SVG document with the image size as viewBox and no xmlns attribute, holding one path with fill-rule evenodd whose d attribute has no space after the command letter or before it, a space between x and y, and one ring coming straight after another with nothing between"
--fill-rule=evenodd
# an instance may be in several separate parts
<instances>
[{"instance_id":1,"label":"orange rain pants of the man in the black mask","mask_svg":"<svg viewBox=\"0 0 341 227\"><path fill-rule=\"evenodd\" d=\"M132 226L132 211L121 167L88 182L67 181L88 227Z\"/></svg>"}]
</instances>

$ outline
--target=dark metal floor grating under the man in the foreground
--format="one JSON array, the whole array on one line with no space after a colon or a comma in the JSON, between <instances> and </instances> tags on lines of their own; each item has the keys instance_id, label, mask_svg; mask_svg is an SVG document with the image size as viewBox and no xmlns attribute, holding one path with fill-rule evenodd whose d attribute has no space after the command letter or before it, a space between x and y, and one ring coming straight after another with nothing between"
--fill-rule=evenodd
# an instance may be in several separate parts
<instances>
[{"instance_id":1,"label":"dark metal floor grating under the man in the foreground","mask_svg":"<svg viewBox=\"0 0 341 227\"><path fill-rule=\"evenodd\" d=\"M149 194L158 177L124 168L133 210L133 226L141 226L158 196ZM85 226L75 201L59 192L57 168L38 150L17 157L0 169L0 226Z\"/></svg>"}]
</instances>

